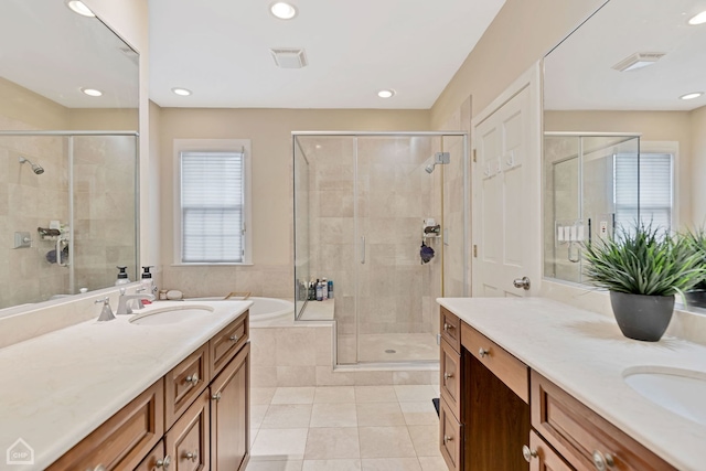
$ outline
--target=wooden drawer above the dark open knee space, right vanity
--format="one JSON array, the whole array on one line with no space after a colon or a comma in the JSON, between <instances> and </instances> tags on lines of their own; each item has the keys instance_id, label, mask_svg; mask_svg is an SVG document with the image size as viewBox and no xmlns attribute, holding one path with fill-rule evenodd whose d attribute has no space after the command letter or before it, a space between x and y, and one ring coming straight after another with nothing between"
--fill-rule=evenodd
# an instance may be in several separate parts
<instances>
[{"instance_id":1,"label":"wooden drawer above the dark open knee space, right vanity","mask_svg":"<svg viewBox=\"0 0 706 471\"><path fill-rule=\"evenodd\" d=\"M530 368L475 329L461 323L461 343L522 400L530 404Z\"/></svg>"}]
</instances>

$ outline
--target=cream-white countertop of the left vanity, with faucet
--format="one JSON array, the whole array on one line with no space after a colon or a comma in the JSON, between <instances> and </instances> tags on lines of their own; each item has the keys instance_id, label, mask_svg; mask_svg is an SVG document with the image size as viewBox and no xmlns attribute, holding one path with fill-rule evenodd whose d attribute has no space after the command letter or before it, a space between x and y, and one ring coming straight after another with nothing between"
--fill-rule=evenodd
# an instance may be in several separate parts
<instances>
[{"instance_id":1,"label":"cream-white countertop of the left vanity, with faucet","mask_svg":"<svg viewBox=\"0 0 706 471\"><path fill-rule=\"evenodd\" d=\"M160 301L139 312L184 307ZM90 320L0 349L0 469L44 469L247 310L252 301L189 302L213 312L163 325ZM18 439L34 465L7 465Z\"/></svg>"}]
</instances>

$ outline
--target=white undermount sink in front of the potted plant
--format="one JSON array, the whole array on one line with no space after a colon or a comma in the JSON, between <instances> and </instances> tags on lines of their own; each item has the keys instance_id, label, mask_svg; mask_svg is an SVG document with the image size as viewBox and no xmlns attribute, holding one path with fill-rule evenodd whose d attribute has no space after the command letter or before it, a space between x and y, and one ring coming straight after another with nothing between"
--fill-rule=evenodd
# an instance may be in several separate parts
<instances>
[{"instance_id":1,"label":"white undermount sink in front of the potted plant","mask_svg":"<svg viewBox=\"0 0 706 471\"><path fill-rule=\"evenodd\" d=\"M650 402L706 426L706 373L666 367L637 367L623 381Z\"/></svg>"}]
</instances>

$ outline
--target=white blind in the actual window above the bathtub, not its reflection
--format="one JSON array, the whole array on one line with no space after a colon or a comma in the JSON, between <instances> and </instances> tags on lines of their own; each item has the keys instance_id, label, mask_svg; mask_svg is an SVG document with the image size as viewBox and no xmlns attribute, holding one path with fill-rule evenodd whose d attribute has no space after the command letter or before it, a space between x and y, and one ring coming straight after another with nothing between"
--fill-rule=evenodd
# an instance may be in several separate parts
<instances>
[{"instance_id":1,"label":"white blind in the actual window above the bathtub, not its reflection","mask_svg":"<svg viewBox=\"0 0 706 471\"><path fill-rule=\"evenodd\" d=\"M181 152L182 263L240 263L244 153Z\"/></svg>"}]
</instances>

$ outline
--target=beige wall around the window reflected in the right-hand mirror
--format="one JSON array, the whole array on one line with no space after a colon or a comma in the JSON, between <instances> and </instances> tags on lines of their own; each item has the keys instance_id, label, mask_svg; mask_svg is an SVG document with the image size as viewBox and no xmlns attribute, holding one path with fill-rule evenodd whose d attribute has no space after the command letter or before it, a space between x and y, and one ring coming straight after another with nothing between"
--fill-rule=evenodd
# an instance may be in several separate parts
<instances>
[{"instance_id":1,"label":"beige wall around the window reflected in the right-hand mirror","mask_svg":"<svg viewBox=\"0 0 706 471\"><path fill-rule=\"evenodd\" d=\"M547 131L641 132L642 141L676 141L676 191L680 225L692 224L692 114L687 111L545 111ZM704 129L704 128L702 128ZM698 132L697 132L698 133ZM706 174L706 173L704 173ZM697 185L698 186L698 185ZM704 217L702 213L700 221Z\"/></svg>"}]
</instances>

